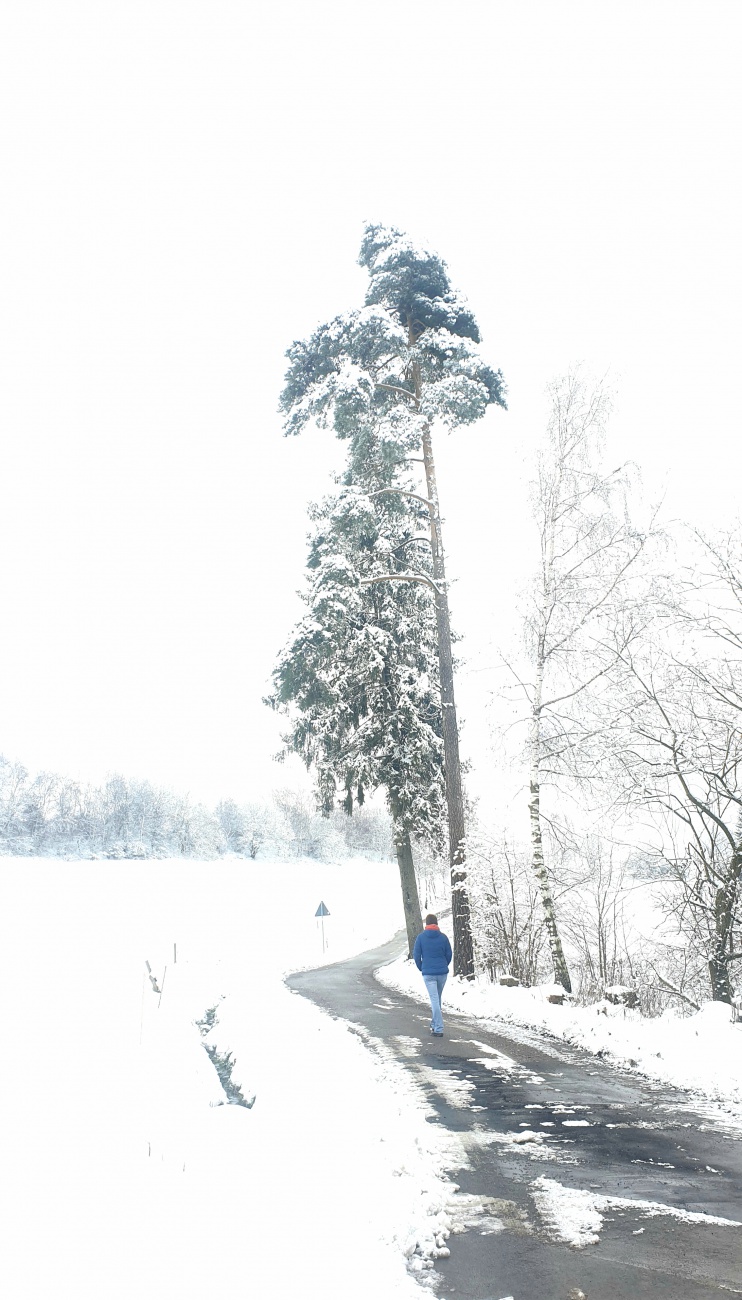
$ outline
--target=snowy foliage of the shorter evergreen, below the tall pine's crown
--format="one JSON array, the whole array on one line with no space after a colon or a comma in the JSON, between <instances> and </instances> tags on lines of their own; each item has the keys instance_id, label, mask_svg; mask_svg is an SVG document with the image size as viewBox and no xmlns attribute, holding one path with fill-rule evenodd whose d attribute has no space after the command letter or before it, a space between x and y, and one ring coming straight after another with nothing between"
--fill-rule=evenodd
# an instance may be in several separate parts
<instances>
[{"instance_id":1,"label":"snowy foliage of the shorter evergreen, below the tall pine's crown","mask_svg":"<svg viewBox=\"0 0 742 1300\"><path fill-rule=\"evenodd\" d=\"M366 476L368 477L368 476ZM381 481L381 478L378 480ZM442 844L443 751L426 538L403 498L343 485L314 511L308 612L278 659L270 703L346 812L383 789L395 835ZM387 573L421 581L376 582Z\"/></svg>"}]
</instances>

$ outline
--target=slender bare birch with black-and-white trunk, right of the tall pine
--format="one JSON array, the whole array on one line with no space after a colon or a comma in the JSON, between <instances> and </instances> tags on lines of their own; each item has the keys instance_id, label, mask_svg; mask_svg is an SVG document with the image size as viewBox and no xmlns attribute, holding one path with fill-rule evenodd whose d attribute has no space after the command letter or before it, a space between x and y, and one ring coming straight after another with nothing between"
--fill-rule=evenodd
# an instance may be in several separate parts
<instances>
[{"instance_id":1,"label":"slender bare birch with black-and-white trunk, right of the tall pine","mask_svg":"<svg viewBox=\"0 0 742 1300\"><path fill-rule=\"evenodd\" d=\"M544 857L543 790L565 779L581 784L599 763L606 725L586 707L609 689L611 671L637 633L628 616L629 577L646 536L626 514L628 471L600 465L609 400L578 369L548 389L546 447L538 456L531 507L538 571L528 597L528 668L509 663L528 703L529 823L533 871L541 890L555 980L572 992Z\"/></svg>"}]
</instances>

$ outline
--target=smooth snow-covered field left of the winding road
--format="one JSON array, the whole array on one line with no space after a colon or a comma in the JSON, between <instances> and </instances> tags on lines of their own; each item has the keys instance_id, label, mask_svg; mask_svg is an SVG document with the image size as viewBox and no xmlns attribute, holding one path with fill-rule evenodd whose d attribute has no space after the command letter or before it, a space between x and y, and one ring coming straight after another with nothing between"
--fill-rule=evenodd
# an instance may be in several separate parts
<instances>
[{"instance_id":1,"label":"smooth snow-covered field left of the winding road","mask_svg":"<svg viewBox=\"0 0 742 1300\"><path fill-rule=\"evenodd\" d=\"M444 1135L282 983L390 937L395 866L4 859L0 911L3 1295L418 1294L451 1223ZM221 1104L212 1006L251 1109Z\"/></svg>"}]
</instances>

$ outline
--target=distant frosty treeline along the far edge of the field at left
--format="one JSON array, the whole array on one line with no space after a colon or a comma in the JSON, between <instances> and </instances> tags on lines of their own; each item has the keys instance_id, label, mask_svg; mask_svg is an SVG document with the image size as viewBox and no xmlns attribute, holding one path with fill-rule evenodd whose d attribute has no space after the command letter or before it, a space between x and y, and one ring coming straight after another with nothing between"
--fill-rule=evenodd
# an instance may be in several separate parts
<instances>
[{"instance_id":1,"label":"distant frosty treeline along the far edge of the field at left","mask_svg":"<svg viewBox=\"0 0 742 1300\"><path fill-rule=\"evenodd\" d=\"M387 858L389 815L361 809L322 816L311 797L278 790L270 802L222 800L214 809L151 781L110 776L82 784L31 775L0 755L0 854L60 858Z\"/></svg>"}]
</instances>

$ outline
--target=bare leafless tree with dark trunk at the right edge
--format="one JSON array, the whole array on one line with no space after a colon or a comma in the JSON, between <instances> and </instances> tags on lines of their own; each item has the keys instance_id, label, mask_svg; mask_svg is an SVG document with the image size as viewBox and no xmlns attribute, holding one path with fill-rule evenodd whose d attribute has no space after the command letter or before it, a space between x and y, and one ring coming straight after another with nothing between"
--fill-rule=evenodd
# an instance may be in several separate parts
<instances>
[{"instance_id":1,"label":"bare leafless tree with dark trunk at the right edge","mask_svg":"<svg viewBox=\"0 0 742 1300\"><path fill-rule=\"evenodd\" d=\"M676 890L678 927L708 965L715 1001L733 1001L742 959L742 543L711 559L650 644L625 649L621 777L658 818L654 852Z\"/></svg>"}]
</instances>

